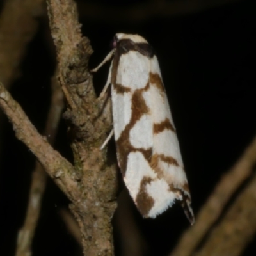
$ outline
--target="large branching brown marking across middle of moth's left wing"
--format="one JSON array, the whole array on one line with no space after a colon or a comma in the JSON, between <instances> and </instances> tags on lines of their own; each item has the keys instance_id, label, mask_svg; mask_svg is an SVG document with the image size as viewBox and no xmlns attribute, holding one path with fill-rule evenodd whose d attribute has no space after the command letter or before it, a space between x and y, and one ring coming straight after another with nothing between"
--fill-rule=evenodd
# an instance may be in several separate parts
<instances>
[{"instance_id":1,"label":"large branching brown marking across middle of moth's left wing","mask_svg":"<svg viewBox=\"0 0 256 256\"><path fill-rule=\"evenodd\" d=\"M137 89L132 95L132 114L129 124L125 126L124 131L121 132L120 137L116 141L116 149L118 156L118 164L120 166L121 172L125 175L125 170L127 168L127 157L130 152L141 152L146 160L149 161L152 156L152 148L135 148L131 145L129 141L129 132L132 127L140 120L141 116L147 115L150 113L145 99L143 98L142 93L148 90L149 85L147 84L145 88Z\"/></svg>"}]
</instances>

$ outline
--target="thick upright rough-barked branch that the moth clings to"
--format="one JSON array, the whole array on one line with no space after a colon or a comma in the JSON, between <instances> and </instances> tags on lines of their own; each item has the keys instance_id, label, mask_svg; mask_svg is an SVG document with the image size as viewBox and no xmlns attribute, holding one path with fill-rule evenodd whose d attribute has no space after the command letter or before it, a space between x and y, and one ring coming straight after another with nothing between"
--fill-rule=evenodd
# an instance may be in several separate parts
<instances>
[{"instance_id":1,"label":"thick upright rough-barked branch that the moth clings to","mask_svg":"<svg viewBox=\"0 0 256 256\"><path fill-rule=\"evenodd\" d=\"M111 218L116 209L116 167L106 164L100 145L111 129L111 112L102 111L96 99L88 60L92 47L81 36L76 4L72 0L48 0L48 15L59 67L58 79L67 99L65 118L70 123L77 175L82 196L70 205L86 256L113 255Z\"/></svg>"}]
</instances>

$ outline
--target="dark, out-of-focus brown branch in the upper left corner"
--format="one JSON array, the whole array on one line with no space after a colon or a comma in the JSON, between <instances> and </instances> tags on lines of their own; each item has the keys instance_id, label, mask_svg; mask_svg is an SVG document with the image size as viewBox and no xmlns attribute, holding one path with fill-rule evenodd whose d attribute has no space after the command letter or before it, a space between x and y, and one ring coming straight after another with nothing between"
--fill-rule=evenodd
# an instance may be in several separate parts
<instances>
[{"instance_id":1,"label":"dark, out-of-focus brown branch in the upper left corner","mask_svg":"<svg viewBox=\"0 0 256 256\"><path fill-rule=\"evenodd\" d=\"M44 13L43 0L8 0L0 15L0 80L10 88L20 76L22 61L28 43L38 28L39 15ZM3 115L0 113L0 155Z\"/></svg>"}]
</instances>

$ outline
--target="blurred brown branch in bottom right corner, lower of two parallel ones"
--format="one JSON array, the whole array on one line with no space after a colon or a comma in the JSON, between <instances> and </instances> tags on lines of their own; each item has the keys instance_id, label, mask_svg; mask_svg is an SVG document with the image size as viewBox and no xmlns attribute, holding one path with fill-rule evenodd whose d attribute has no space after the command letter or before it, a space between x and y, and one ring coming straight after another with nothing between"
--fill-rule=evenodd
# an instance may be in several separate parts
<instances>
[{"instance_id":1,"label":"blurred brown branch in bottom right corner, lower of two parallel ones","mask_svg":"<svg viewBox=\"0 0 256 256\"><path fill-rule=\"evenodd\" d=\"M237 197L195 256L239 256L256 232L256 176Z\"/></svg>"}]
</instances>

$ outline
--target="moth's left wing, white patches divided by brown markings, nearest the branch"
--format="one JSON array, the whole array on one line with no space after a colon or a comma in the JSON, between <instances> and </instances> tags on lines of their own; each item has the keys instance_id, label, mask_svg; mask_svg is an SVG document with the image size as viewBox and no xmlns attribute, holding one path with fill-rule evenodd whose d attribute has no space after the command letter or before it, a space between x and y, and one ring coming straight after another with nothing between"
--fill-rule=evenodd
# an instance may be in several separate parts
<instances>
[{"instance_id":1,"label":"moth's left wing, white patches divided by brown markings, nearest the branch","mask_svg":"<svg viewBox=\"0 0 256 256\"><path fill-rule=\"evenodd\" d=\"M132 199L146 216L154 202L144 187L156 179L150 166L153 145L148 102L150 58L138 51L115 56L112 74L116 74L111 98L118 164Z\"/></svg>"}]
</instances>

